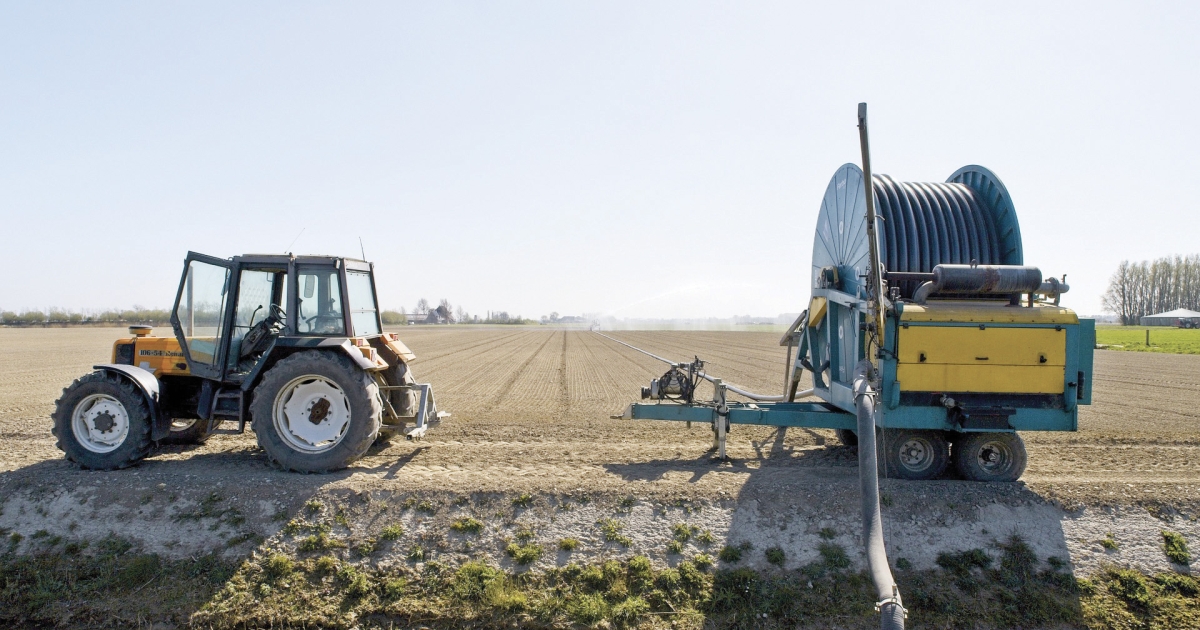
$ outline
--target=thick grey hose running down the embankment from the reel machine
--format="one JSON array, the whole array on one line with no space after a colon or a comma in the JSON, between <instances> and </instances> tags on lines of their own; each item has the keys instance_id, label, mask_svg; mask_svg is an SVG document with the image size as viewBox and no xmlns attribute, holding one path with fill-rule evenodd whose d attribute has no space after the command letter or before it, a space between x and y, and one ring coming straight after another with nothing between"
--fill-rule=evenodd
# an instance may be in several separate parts
<instances>
[{"instance_id":1,"label":"thick grey hose running down the embankment from the reel machine","mask_svg":"<svg viewBox=\"0 0 1200 630\"><path fill-rule=\"evenodd\" d=\"M854 407L858 412L858 480L863 491L863 540L866 542L866 566L878 594L880 628L904 630L906 611L900 588L892 577L888 553L883 547L883 520L880 515L880 472L875 449L875 390L870 385L874 367L860 361L854 368Z\"/></svg>"}]
</instances>

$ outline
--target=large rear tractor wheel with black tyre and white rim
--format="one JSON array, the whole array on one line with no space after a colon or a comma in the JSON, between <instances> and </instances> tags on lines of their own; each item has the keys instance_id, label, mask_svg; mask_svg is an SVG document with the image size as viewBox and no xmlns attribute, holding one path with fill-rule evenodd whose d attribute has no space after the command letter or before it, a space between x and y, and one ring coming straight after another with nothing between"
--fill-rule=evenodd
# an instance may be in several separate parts
<instances>
[{"instance_id":1,"label":"large rear tractor wheel with black tyre and white rim","mask_svg":"<svg viewBox=\"0 0 1200 630\"><path fill-rule=\"evenodd\" d=\"M349 358L308 350L275 364L250 403L258 445L271 463L328 473L361 457L379 433L379 388Z\"/></svg>"}]
</instances>

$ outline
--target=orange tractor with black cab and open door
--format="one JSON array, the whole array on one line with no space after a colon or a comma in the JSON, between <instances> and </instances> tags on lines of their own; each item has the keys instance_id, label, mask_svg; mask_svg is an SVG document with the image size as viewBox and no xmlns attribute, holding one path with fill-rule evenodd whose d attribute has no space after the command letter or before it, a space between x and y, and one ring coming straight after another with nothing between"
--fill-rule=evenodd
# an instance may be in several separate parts
<instances>
[{"instance_id":1,"label":"orange tractor with black cab and open door","mask_svg":"<svg viewBox=\"0 0 1200 630\"><path fill-rule=\"evenodd\" d=\"M155 444L200 444L250 422L272 464L323 473L449 415L409 372L413 353L383 331L365 260L188 252L170 324L172 337L130 326L112 362L62 390L54 436L68 460L125 468Z\"/></svg>"}]
</instances>

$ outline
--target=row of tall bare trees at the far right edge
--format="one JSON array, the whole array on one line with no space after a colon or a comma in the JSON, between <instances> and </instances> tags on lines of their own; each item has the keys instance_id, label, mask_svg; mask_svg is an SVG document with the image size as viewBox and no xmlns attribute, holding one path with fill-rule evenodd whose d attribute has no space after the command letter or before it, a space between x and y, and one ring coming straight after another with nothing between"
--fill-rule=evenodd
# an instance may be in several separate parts
<instances>
[{"instance_id":1,"label":"row of tall bare trees at the far right edge","mask_svg":"<svg viewBox=\"0 0 1200 630\"><path fill-rule=\"evenodd\" d=\"M1176 308L1200 311L1200 254L1122 260L1102 300L1104 310L1127 326Z\"/></svg>"}]
</instances>

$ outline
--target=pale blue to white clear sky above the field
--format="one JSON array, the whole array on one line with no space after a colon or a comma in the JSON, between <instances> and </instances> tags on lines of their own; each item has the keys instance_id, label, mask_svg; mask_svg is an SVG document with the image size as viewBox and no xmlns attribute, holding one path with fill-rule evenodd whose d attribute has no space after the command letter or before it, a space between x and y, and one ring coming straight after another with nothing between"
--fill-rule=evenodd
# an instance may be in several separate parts
<instances>
[{"instance_id":1,"label":"pale blue to white clear sky above the field","mask_svg":"<svg viewBox=\"0 0 1200 630\"><path fill-rule=\"evenodd\" d=\"M1196 2L2 2L0 308L169 307L188 250L380 305L799 312L859 162L1003 180L1082 314L1200 252ZM360 246L361 239L361 246Z\"/></svg>"}]
</instances>

